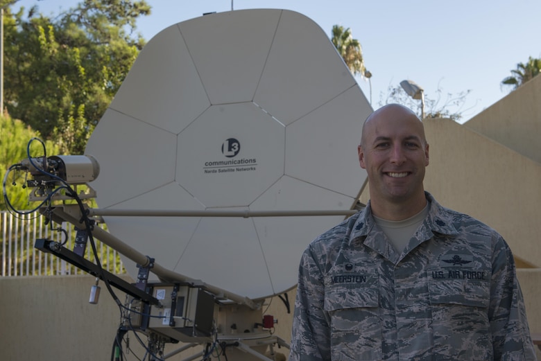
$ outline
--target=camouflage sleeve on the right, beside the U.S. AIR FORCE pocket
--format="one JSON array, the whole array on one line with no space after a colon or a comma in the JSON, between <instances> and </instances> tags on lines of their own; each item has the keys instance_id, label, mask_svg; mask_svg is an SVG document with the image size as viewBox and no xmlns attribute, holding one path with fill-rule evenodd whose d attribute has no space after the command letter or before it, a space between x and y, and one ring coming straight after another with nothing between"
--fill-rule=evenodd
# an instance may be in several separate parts
<instances>
[{"instance_id":1,"label":"camouflage sleeve on the right, beside the U.S. AIR FORCE pocket","mask_svg":"<svg viewBox=\"0 0 541 361\"><path fill-rule=\"evenodd\" d=\"M492 258L488 317L495 360L536 360L515 261L501 236Z\"/></svg>"}]
</instances>

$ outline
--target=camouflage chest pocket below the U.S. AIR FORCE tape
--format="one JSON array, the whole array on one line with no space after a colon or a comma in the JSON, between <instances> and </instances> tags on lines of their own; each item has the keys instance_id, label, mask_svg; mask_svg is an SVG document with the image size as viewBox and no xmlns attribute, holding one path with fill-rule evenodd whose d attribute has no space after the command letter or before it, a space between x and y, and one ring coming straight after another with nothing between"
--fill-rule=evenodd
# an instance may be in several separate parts
<instances>
[{"instance_id":1,"label":"camouflage chest pocket below the U.S. AIR FORCE tape","mask_svg":"<svg viewBox=\"0 0 541 361\"><path fill-rule=\"evenodd\" d=\"M436 360L492 360L488 279L429 279Z\"/></svg>"}]
</instances>

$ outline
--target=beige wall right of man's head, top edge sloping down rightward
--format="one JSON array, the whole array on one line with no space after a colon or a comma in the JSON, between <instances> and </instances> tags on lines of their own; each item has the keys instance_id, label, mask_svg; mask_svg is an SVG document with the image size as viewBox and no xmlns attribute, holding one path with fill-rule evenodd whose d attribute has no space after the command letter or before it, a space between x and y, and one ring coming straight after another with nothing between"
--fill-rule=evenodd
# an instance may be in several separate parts
<instances>
[{"instance_id":1,"label":"beige wall right of man's head, top edge sloping down rightward","mask_svg":"<svg viewBox=\"0 0 541 361\"><path fill-rule=\"evenodd\" d=\"M424 121L425 188L449 208L497 229L515 256L539 267L541 164L448 119Z\"/></svg>"}]
</instances>

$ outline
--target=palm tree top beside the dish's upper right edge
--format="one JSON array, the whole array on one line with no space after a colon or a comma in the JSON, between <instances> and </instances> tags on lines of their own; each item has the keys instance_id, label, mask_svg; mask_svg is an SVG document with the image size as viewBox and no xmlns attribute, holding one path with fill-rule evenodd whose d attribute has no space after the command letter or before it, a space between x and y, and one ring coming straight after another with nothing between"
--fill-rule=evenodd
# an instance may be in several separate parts
<instances>
[{"instance_id":1,"label":"palm tree top beside the dish's upper right edge","mask_svg":"<svg viewBox=\"0 0 541 361\"><path fill-rule=\"evenodd\" d=\"M359 40L353 39L350 28L344 30L343 26L334 25L331 42L352 74L361 74L361 77L364 78L366 68L363 61L363 51Z\"/></svg>"}]
</instances>

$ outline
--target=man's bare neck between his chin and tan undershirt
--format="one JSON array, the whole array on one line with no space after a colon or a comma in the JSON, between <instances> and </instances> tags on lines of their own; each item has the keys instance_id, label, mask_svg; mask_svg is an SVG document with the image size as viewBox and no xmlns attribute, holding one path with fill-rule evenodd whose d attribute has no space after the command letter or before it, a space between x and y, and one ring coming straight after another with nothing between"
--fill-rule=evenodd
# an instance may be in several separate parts
<instances>
[{"instance_id":1,"label":"man's bare neck between his chin and tan undershirt","mask_svg":"<svg viewBox=\"0 0 541 361\"><path fill-rule=\"evenodd\" d=\"M372 214L384 220L405 220L418 214L424 206L427 205L427 198L422 193L422 197L415 197L413 200L404 202L396 202L393 200L372 200L370 199L370 207Z\"/></svg>"}]
</instances>

